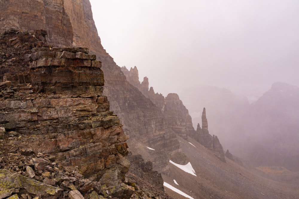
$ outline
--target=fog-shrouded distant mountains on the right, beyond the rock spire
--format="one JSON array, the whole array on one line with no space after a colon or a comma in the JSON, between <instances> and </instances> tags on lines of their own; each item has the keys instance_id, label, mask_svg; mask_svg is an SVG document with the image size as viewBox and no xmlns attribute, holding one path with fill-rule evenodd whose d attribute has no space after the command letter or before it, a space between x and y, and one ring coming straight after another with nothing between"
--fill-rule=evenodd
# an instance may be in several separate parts
<instances>
[{"instance_id":1,"label":"fog-shrouded distant mountains on the right, beyond the rock spire","mask_svg":"<svg viewBox=\"0 0 299 199\"><path fill-rule=\"evenodd\" d=\"M232 154L253 166L298 171L298 87L276 82L252 104L222 88L188 89L182 100L192 110L193 125L201 120L198 106L205 106L211 131Z\"/></svg>"}]
</instances>

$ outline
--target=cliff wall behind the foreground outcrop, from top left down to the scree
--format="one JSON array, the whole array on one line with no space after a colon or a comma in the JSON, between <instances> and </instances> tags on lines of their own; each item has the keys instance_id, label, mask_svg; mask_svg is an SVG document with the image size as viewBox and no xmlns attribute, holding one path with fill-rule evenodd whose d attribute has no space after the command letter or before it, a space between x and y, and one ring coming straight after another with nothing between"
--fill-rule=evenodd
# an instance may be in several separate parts
<instances>
[{"instance_id":1,"label":"cliff wall behind the foreground outcrop, from top left down to the scree","mask_svg":"<svg viewBox=\"0 0 299 199\"><path fill-rule=\"evenodd\" d=\"M161 110L126 81L120 67L103 49L88 0L1 1L1 4L1 31L11 27L23 31L44 29L48 33L46 40L53 47L88 47L102 61L105 74L103 94L109 98L110 107L119 116L125 133L131 137L130 144L135 144L137 139L138 143L161 149L163 157L172 156L179 163L186 161L176 135L165 127L166 120ZM36 15L36 11L40 14ZM166 160L149 158L156 161L155 169L167 172Z\"/></svg>"}]
</instances>

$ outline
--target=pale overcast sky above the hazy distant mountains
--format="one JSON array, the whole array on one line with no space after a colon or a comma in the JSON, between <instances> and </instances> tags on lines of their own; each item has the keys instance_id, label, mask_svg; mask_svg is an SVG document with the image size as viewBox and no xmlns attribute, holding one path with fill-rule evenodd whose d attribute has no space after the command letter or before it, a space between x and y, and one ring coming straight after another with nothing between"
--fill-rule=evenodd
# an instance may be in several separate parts
<instances>
[{"instance_id":1,"label":"pale overcast sky above the hazy distant mountains","mask_svg":"<svg viewBox=\"0 0 299 199\"><path fill-rule=\"evenodd\" d=\"M155 92L299 85L298 0L90 0L103 47Z\"/></svg>"}]
</instances>

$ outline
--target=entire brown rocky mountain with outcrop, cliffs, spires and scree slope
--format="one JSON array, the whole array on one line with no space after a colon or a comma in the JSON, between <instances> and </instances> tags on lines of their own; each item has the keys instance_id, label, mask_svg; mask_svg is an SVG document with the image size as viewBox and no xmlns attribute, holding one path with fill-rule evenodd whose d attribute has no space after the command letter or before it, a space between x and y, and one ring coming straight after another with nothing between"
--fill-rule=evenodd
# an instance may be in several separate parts
<instances>
[{"instance_id":1,"label":"entire brown rocky mountain with outcrop, cliffs, spires and scree slope","mask_svg":"<svg viewBox=\"0 0 299 199\"><path fill-rule=\"evenodd\" d=\"M1 125L5 125L1 168L20 172L13 176L16 181L23 178L19 175L30 178L34 173L35 184L45 184L46 178L54 180L57 169L63 173L53 185L61 187L57 192L31 193L26 189L28 183L21 183L14 190L1 188L9 193L3 198L17 191L27 198L43 194L47 198L51 193L53 198L81 198L80 194L86 198L170 198L161 192L161 176L164 190L173 198L183 197L177 190L188 198L298 198L298 183L277 182L230 159L221 161L215 155L219 150L214 148L216 136L206 136L213 139L215 150L210 150L196 141L200 130L198 134L194 129L185 132L192 129L192 122L176 94L167 99L143 94L144 89L154 93L148 89L147 78L141 91L130 84L100 44L89 1L11 0L0 1L0 5L0 30L15 34L2 42L1 69L8 72L3 72L1 84ZM33 32L36 29L46 32ZM31 32L24 38L33 41L34 47L27 40L29 47L22 43L19 30ZM43 46L44 40L47 46ZM13 50L11 44L18 49ZM82 46L97 55L102 67ZM31 49L22 60L22 51ZM206 117L202 119L201 130L206 133ZM11 149L11 145L17 147ZM127 158L128 150L132 155ZM45 166L39 168L39 163ZM57 171L47 167L55 164L61 166ZM25 166L34 168L33 172L29 167L25 171ZM3 172L6 175L0 180L11 179L10 173Z\"/></svg>"}]
</instances>

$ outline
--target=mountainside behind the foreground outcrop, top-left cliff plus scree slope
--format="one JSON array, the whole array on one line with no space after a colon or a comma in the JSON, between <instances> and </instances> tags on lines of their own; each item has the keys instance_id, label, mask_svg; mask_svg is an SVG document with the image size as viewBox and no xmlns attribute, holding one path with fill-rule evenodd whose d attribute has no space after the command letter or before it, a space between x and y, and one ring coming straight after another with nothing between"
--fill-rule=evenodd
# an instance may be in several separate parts
<instances>
[{"instance_id":1,"label":"mountainside behind the foreground outcrop, top-left cliff plus scree slope","mask_svg":"<svg viewBox=\"0 0 299 199\"><path fill-rule=\"evenodd\" d=\"M84 46L88 47L91 53L97 55L97 58L102 61L105 78L103 94L108 96L110 109L118 114L124 132L130 136L127 141L129 150L134 155L142 154L145 160L151 160L154 169L162 172L164 181L171 179L173 173L179 173L176 167L169 163L169 160L178 164L191 162L196 173L202 175L198 175L200 176L198 178L194 178L193 175L188 178L181 174L181 179L185 184L183 191L192 191L194 195L191 195L194 198L227 198L228 196L238 198L240 197L238 192L243 191L248 194L248 196L243 195L243 198L259 198L258 192L261 190L259 187L269 189L263 194L269 194L270 197L273 190L271 184L269 185L269 181L264 178L260 183L256 182L256 178L259 179L260 177L252 174L254 171L245 169L245 177L239 177L240 174L234 173L239 167L233 166L234 163L231 161L228 163L220 161L215 156L215 152L204 148L193 139L189 141L197 146L198 150L185 148L188 143L178 136L173 129L168 128L167 118L161 107L155 105L138 88L132 86L126 80L120 67L115 64L113 58L103 49L94 26L89 1L11 0L0 1L0 4L1 18L3 18L2 23L0 23L0 30L6 30L10 27L23 30L45 29L48 32L47 41L50 45L55 47ZM41 14L36 15L36 12ZM36 23L31 24L31 19L34 19ZM226 172L227 169L229 170L228 173ZM249 178L249 183L247 178ZM181 183L179 180L178 182ZM244 186L240 186L242 183ZM277 184L272 181L271 183ZM246 189L247 186L248 189ZM197 190L198 187L200 187L199 190ZM279 186L277 187L279 188ZM291 184L282 187L281 195L273 192L273 198L277 198L277 196L294 198L293 191L297 187ZM231 194L225 193L226 189ZM250 194L251 190L258 191ZM289 191L289 195L286 191Z\"/></svg>"}]
</instances>

